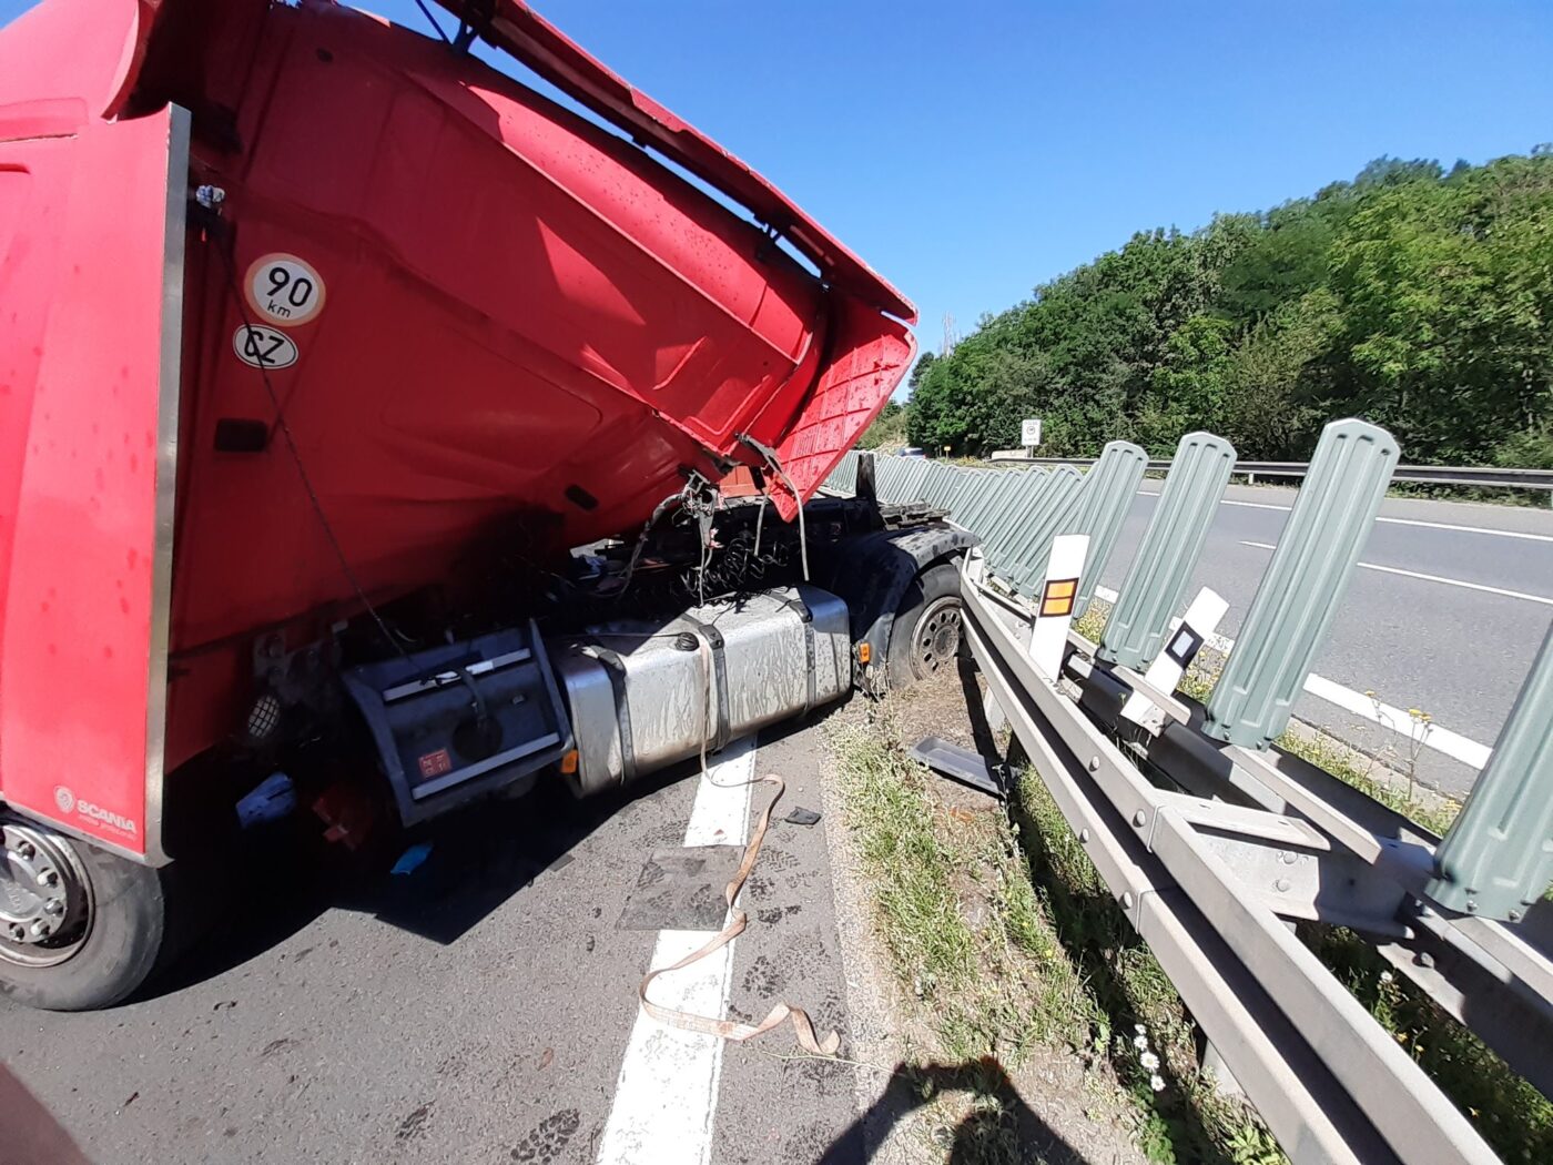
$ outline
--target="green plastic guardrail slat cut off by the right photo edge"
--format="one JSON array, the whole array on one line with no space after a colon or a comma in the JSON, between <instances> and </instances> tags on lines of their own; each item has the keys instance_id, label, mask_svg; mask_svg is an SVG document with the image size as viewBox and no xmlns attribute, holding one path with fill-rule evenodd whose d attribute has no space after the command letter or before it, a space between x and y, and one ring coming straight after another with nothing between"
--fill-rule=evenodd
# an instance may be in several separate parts
<instances>
[{"instance_id":1,"label":"green plastic guardrail slat cut off by the right photo edge","mask_svg":"<svg viewBox=\"0 0 1553 1165\"><path fill-rule=\"evenodd\" d=\"M1447 910L1519 923L1553 881L1553 628L1435 851L1424 893Z\"/></svg>"}]
</instances>

